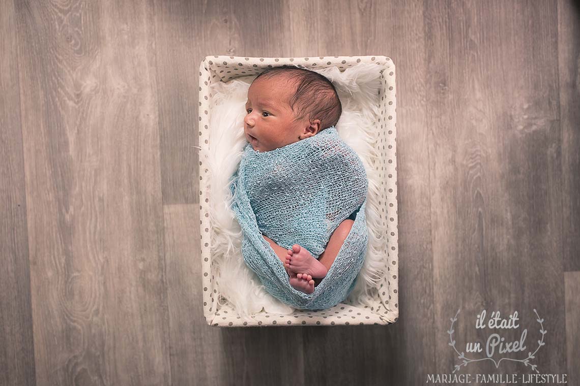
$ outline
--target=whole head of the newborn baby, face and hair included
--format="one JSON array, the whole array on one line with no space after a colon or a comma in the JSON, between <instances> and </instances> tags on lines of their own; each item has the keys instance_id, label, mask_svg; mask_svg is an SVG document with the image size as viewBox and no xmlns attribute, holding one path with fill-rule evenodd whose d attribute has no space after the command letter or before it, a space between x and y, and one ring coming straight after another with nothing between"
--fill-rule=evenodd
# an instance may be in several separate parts
<instances>
[{"instance_id":1,"label":"whole head of the newborn baby, face and hair included","mask_svg":"<svg viewBox=\"0 0 580 386\"><path fill-rule=\"evenodd\" d=\"M246 139L269 152L335 126L342 105L332 83L317 72L274 67L260 73L248 90Z\"/></svg>"}]
</instances>

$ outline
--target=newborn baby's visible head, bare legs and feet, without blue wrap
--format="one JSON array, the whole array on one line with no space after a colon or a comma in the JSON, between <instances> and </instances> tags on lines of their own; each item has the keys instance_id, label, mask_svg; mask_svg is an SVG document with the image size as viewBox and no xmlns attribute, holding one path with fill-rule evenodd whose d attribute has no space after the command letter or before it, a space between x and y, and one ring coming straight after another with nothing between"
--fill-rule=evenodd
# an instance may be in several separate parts
<instances>
[{"instance_id":1,"label":"newborn baby's visible head, bare legs and feet, without blue wrap","mask_svg":"<svg viewBox=\"0 0 580 386\"><path fill-rule=\"evenodd\" d=\"M270 152L317 135L335 126L342 113L338 94L327 78L313 71L285 66L267 69L253 80L245 108L244 133L256 152ZM288 181L287 189L300 183ZM262 234L284 264L293 288L314 292L314 286L327 275L349 235L353 215L333 231L318 260L299 244L285 249Z\"/></svg>"}]
</instances>

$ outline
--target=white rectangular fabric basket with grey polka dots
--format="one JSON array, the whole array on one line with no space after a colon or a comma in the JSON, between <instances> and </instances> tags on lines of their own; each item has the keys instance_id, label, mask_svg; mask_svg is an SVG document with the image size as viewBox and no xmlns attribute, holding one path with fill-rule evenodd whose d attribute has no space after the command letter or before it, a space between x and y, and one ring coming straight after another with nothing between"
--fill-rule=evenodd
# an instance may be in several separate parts
<instances>
[{"instance_id":1,"label":"white rectangular fabric basket with grey polka dots","mask_svg":"<svg viewBox=\"0 0 580 386\"><path fill-rule=\"evenodd\" d=\"M339 303L324 311L296 310L293 314L260 313L252 321L242 322L230 306L217 310L217 282L212 275L211 229L208 215L211 197L208 195L209 170L200 161L200 231L204 317L211 326L292 326L292 325L387 325L398 319L398 233L397 233L397 159L396 159L396 99L395 66L385 56L332 56L306 58L255 58L237 56L207 56L200 65L200 99L198 126L200 146L209 149L209 109L212 94L209 86L215 82L228 82L240 76L258 75L266 68L296 65L306 69L338 67L341 71L358 63L376 63L386 68L381 74L383 89L377 104L380 117L376 122L379 137L376 148L380 162L375 165L382 188L384 211L381 211L384 233L387 237L385 264L387 275L377 287L376 306L354 307ZM379 71L379 69L377 70Z\"/></svg>"}]
</instances>

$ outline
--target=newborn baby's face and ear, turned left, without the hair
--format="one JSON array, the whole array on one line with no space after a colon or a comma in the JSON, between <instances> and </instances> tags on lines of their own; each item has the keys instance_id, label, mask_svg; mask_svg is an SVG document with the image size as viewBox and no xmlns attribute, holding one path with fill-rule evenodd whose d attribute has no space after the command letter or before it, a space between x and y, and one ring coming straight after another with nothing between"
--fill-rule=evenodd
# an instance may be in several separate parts
<instances>
[{"instance_id":1,"label":"newborn baby's face and ear, turned left, without the hair","mask_svg":"<svg viewBox=\"0 0 580 386\"><path fill-rule=\"evenodd\" d=\"M289 105L295 86L285 79L258 79L248 89L244 133L254 150L269 152L311 137L306 120L294 122Z\"/></svg>"}]
</instances>

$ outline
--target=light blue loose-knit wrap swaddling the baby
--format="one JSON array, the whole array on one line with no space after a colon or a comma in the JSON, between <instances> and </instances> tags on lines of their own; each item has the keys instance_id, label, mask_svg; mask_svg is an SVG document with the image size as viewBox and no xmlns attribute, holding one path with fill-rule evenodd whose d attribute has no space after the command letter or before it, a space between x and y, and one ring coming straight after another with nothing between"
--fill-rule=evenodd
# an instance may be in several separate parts
<instances>
[{"instance_id":1,"label":"light blue loose-knit wrap swaddling the baby","mask_svg":"<svg viewBox=\"0 0 580 386\"><path fill-rule=\"evenodd\" d=\"M368 180L360 157L335 127L269 152L247 144L230 192L243 233L244 262L266 291L304 310L325 310L346 299L367 252ZM262 234L286 249L299 244L319 258L347 218L354 219L353 227L326 277L310 294L292 288Z\"/></svg>"}]
</instances>

